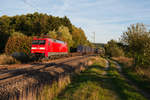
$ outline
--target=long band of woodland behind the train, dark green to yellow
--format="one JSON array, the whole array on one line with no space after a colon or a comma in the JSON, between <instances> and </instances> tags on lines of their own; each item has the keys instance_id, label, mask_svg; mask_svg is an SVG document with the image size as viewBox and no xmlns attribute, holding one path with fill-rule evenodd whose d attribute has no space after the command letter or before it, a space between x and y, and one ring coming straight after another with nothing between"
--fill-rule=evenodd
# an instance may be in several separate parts
<instances>
[{"instance_id":1,"label":"long band of woodland behind the train, dark green to yellow","mask_svg":"<svg viewBox=\"0 0 150 100\"><path fill-rule=\"evenodd\" d=\"M91 45L84 31L77 28L70 20L52 15L35 12L34 14L2 16L0 17L0 51L4 51L10 36L14 33L25 36L49 35L51 38L66 41L69 47L77 45Z\"/></svg>"}]
</instances>

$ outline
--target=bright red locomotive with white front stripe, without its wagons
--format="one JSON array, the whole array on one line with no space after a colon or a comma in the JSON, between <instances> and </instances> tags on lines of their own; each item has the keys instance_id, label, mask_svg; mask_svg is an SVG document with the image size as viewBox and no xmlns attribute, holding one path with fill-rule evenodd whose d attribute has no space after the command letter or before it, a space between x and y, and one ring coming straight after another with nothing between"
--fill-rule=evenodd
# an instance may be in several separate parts
<instances>
[{"instance_id":1,"label":"bright red locomotive with white front stripe, without its wagons","mask_svg":"<svg viewBox=\"0 0 150 100\"><path fill-rule=\"evenodd\" d=\"M34 38L32 41L31 53L50 57L54 55L68 54L67 43L51 38Z\"/></svg>"}]
</instances>

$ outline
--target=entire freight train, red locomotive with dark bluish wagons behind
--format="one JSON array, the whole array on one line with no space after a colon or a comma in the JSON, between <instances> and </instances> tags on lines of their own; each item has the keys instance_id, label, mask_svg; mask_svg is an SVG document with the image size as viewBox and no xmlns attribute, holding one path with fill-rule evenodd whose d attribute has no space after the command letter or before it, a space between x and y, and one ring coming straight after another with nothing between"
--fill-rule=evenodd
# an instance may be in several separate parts
<instances>
[{"instance_id":1,"label":"entire freight train, red locomotive with dark bluish wagons behind","mask_svg":"<svg viewBox=\"0 0 150 100\"><path fill-rule=\"evenodd\" d=\"M64 56L70 54L69 49L67 43L60 40L51 38L33 38L31 54L46 58L51 56ZM74 50L76 53L82 55L97 53L97 49L83 45L77 46Z\"/></svg>"}]
</instances>

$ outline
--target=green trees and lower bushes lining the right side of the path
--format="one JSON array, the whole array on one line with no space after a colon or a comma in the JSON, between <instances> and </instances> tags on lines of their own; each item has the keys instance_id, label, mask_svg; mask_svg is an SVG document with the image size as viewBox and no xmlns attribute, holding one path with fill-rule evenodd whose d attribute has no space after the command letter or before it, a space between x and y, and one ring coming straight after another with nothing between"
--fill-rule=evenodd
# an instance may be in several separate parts
<instances>
[{"instance_id":1,"label":"green trees and lower bushes lining the right side of the path","mask_svg":"<svg viewBox=\"0 0 150 100\"><path fill-rule=\"evenodd\" d=\"M133 58L135 67L150 65L150 31L142 23L132 24L123 32L120 40L109 41L105 45L110 57L126 56Z\"/></svg>"}]
</instances>

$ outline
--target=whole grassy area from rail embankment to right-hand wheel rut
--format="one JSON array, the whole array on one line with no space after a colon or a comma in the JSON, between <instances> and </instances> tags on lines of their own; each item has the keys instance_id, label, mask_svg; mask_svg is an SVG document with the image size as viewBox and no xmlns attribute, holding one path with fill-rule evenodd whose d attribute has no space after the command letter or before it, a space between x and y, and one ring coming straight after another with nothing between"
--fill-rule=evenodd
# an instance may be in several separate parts
<instances>
[{"instance_id":1,"label":"whole grassy area from rail embankment to right-hand wheel rut","mask_svg":"<svg viewBox=\"0 0 150 100\"><path fill-rule=\"evenodd\" d=\"M147 100L122 77L111 62L99 58L86 71L74 75L71 84L54 100Z\"/></svg>"}]
</instances>

